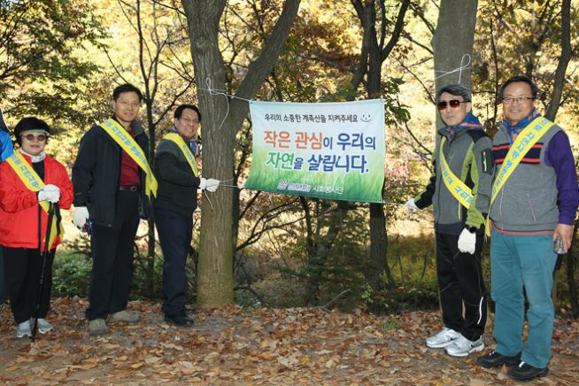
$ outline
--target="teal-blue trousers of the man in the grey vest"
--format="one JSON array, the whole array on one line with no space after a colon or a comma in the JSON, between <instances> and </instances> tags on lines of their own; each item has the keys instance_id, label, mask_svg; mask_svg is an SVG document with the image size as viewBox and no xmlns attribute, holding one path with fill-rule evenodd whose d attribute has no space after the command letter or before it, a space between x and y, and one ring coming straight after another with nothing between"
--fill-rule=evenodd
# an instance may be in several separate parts
<instances>
[{"instance_id":1,"label":"teal-blue trousers of the man in the grey vest","mask_svg":"<svg viewBox=\"0 0 579 386\"><path fill-rule=\"evenodd\" d=\"M492 231L490 237L491 296L496 303L496 351L514 356L532 367L544 368L551 358L555 317L552 273L557 262L552 235L505 235ZM522 344L525 298L529 301L529 339Z\"/></svg>"}]
</instances>

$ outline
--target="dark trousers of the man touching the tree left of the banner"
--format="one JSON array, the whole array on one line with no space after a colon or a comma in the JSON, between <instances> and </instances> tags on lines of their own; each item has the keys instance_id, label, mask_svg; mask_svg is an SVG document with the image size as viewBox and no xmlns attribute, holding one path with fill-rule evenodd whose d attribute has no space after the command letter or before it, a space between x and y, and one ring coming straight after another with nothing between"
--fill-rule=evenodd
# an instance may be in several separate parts
<instances>
[{"instance_id":1,"label":"dark trousers of the man touching the tree left of the banner","mask_svg":"<svg viewBox=\"0 0 579 386\"><path fill-rule=\"evenodd\" d=\"M155 207L155 223L163 250L163 307L166 315L185 310L185 263L191 245L193 216Z\"/></svg>"}]
</instances>

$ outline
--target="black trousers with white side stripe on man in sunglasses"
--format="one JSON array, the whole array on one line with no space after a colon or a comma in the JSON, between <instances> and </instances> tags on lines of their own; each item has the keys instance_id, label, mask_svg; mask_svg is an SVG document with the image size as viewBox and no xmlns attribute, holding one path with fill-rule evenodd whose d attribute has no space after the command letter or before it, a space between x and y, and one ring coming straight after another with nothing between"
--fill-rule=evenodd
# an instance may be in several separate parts
<instances>
[{"instance_id":1,"label":"black trousers with white side stripe on man in sunglasses","mask_svg":"<svg viewBox=\"0 0 579 386\"><path fill-rule=\"evenodd\" d=\"M436 233L436 274L444 326L469 340L478 339L487 321L482 279L483 235L476 235L475 254L462 253L458 235ZM463 314L464 305L464 314Z\"/></svg>"}]
</instances>

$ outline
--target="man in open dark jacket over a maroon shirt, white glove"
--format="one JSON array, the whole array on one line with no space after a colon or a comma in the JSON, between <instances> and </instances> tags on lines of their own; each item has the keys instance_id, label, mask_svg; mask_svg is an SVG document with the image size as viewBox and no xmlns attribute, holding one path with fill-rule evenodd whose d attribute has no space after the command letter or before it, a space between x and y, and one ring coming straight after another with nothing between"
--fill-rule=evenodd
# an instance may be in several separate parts
<instances>
[{"instance_id":1,"label":"man in open dark jacket over a maroon shirt, white glove","mask_svg":"<svg viewBox=\"0 0 579 386\"><path fill-rule=\"evenodd\" d=\"M114 89L112 99L112 119L83 135L73 166L73 222L91 234L93 267L86 311L90 335L106 332L108 315L109 321L140 319L138 314L127 312L127 297L136 230L139 217L146 218L146 193L152 185L152 172L143 157L149 139L135 120L143 99L141 91L123 84ZM111 127L116 134L107 131Z\"/></svg>"}]
</instances>

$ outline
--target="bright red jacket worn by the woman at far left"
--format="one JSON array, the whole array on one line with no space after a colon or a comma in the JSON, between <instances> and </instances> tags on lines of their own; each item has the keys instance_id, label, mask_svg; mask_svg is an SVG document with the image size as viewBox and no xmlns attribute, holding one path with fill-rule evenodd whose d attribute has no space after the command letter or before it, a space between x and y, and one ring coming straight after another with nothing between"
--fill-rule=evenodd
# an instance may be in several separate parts
<instances>
[{"instance_id":1,"label":"bright red jacket worn by the woman at far left","mask_svg":"<svg viewBox=\"0 0 579 386\"><path fill-rule=\"evenodd\" d=\"M30 158L22 154L30 165ZM60 189L61 209L69 209L73 203L73 183L66 167L54 158L44 158L44 184ZM38 248L38 198L28 190L8 162L0 164L0 245L10 248ZM42 210L41 243L44 250L48 214ZM54 248L60 243L57 236Z\"/></svg>"}]
</instances>

